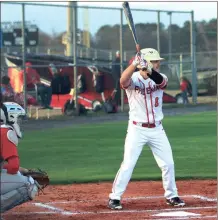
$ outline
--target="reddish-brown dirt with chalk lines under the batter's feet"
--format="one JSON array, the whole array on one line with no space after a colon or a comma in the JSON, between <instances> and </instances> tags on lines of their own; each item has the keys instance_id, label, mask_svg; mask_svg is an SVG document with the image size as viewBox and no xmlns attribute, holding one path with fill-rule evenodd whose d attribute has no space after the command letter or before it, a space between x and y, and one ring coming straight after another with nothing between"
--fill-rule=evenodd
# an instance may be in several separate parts
<instances>
[{"instance_id":1,"label":"reddish-brown dirt with chalk lines under the batter's feet","mask_svg":"<svg viewBox=\"0 0 218 220\"><path fill-rule=\"evenodd\" d=\"M162 182L130 182L122 203L124 209L107 208L112 183L49 186L45 194L4 214L5 220L142 220L217 219L215 180L177 181L186 206L165 204Z\"/></svg>"}]
</instances>

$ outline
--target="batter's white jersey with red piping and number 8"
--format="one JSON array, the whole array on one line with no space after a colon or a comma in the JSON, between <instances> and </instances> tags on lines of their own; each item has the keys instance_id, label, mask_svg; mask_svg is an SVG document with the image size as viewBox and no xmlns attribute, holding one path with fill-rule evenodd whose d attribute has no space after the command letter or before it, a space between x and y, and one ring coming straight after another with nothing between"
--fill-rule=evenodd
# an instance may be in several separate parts
<instances>
[{"instance_id":1,"label":"batter's white jersey with red piping and number 8","mask_svg":"<svg viewBox=\"0 0 218 220\"><path fill-rule=\"evenodd\" d=\"M155 123L163 119L163 88L167 85L167 76L161 85L150 78L144 79L140 72L134 72L131 84L125 88L129 102L129 119L142 123Z\"/></svg>"}]
</instances>

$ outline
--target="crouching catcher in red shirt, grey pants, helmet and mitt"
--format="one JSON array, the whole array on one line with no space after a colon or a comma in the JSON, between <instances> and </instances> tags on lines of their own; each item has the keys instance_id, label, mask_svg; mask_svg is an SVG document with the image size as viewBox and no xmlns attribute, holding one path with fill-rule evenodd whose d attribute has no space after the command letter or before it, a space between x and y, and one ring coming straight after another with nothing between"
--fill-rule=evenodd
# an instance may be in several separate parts
<instances>
[{"instance_id":1,"label":"crouching catcher in red shirt, grey pants, helmet and mitt","mask_svg":"<svg viewBox=\"0 0 218 220\"><path fill-rule=\"evenodd\" d=\"M1 213L33 200L49 184L45 172L20 167L17 145L22 132L19 123L25 110L13 102L0 102ZM34 176L36 175L36 177Z\"/></svg>"}]
</instances>

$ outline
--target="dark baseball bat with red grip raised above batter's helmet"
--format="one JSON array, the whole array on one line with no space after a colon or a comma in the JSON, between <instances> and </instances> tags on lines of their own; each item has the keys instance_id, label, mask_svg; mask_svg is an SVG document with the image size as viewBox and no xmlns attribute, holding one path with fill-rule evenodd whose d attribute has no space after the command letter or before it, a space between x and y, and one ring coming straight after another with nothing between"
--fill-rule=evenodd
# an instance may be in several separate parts
<instances>
[{"instance_id":1,"label":"dark baseball bat with red grip raised above batter's helmet","mask_svg":"<svg viewBox=\"0 0 218 220\"><path fill-rule=\"evenodd\" d=\"M131 10L129 7L129 3L123 2L122 6L123 6L124 14L126 16L127 24L129 26L130 31L132 32L132 36L133 36L134 42L136 44L136 50L137 50L137 52L140 52L139 41L138 41L138 37L136 35L135 24L133 21L133 17L132 17L132 13L131 13Z\"/></svg>"}]
</instances>

